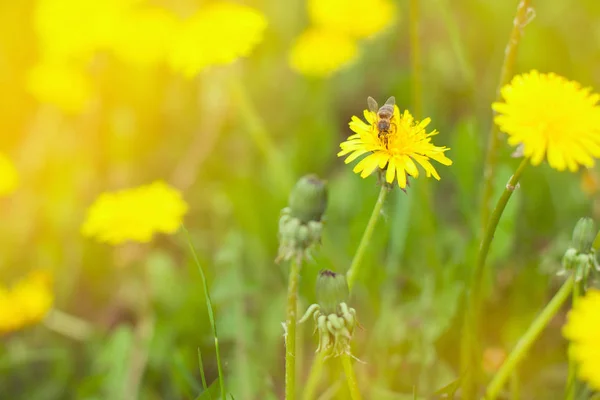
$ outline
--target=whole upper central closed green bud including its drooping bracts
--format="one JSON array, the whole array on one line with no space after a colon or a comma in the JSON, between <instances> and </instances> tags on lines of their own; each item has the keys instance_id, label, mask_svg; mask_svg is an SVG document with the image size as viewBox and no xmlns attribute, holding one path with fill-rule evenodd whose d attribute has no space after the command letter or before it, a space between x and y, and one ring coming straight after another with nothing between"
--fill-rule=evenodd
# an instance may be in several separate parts
<instances>
[{"instance_id":1,"label":"whole upper central closed green bud including its drooping bracts","mask_svg":"<svg viewBox=\"0 0 600 400\"><path fill-rule=\"evenodd\" d=\"M302 177L292 189L289 206L281 211L277 262L310 258L311 248L321 243L326 207L325 181L316 175Z\"/></svg>"}]
</instances>

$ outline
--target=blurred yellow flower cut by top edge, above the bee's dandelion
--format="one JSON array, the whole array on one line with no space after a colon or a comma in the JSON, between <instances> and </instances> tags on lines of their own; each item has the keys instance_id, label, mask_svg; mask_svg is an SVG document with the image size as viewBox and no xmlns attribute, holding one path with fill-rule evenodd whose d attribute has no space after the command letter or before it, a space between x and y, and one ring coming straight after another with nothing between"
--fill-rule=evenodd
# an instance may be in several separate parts
<instances>
[{"instance_id":1,"label":"blurred yellow flower cut by top edge, above the bee's dandelion","mask_svg":"<svg viewBox=\"0 0 600 400\"><path fill-rule=\"evenodd\" d=\"M396 7L390 0L308 0L313 24L352 36L373 36L388 27Z\"/></svg>"}]
</instances>

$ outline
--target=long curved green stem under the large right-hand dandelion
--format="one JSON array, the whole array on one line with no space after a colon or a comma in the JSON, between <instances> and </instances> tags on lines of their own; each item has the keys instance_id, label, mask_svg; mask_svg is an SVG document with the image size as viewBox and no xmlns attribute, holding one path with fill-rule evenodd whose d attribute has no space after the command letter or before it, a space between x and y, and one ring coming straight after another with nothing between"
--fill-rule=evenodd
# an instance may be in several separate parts
<instances>
[{"instance_id":1,"label":"long curved green stem under the large right-hand dandelion","mask_svg":"<svg viewBox=\"0 0 600 400\"><path fill-rule=\"evenodd\" d=\"M508 200L515 191L515 188L519 183L519 179L521 178L521 174L528 163L529 158L524 157L521 161L521 164L515 171L515 174L508 181L502 196L500 196L498 203L496 203L496 207L494 208L494 211L487 224L481 245L479 247L475 271L473 273L469 290L469 298L467 300L464 327L465 332L462 335L461 346L462 351L464 351L462 358L462 371L467 373L463 383L463 392L464 398L467 400L475 398L475 393L477 391L477 380L479 378L480 338L478 334L478 327L480 307L482 301L484 300L482 296L482 286L486 271L485 262L494 238L494 233L496 232L496 228L500 222L500 217L506 208L506 204L508 204Z\"/></svg>"}]
</instances>

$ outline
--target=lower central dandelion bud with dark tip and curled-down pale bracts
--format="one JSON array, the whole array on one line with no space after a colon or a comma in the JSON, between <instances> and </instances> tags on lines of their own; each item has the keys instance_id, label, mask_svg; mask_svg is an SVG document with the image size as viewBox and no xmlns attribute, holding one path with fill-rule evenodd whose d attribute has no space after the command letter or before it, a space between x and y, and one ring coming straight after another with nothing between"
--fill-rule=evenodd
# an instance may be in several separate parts
<instances>
[{"instance_id":1,"label":"lower central dandelion bud with dark tip and curled-down pale bracts","mask_svg":"<svg viewBox=\"0 0 600 400\"><path fill-rule=\"evenodd\" d=\"M316 295L317 303L308 307L299 322L313 317L319 335L317 353L327 357L351 354L350 341L360 325L356 311L346 303L350 295L346 277L329 270L319 272Z\"/></svg>"}]
</instances>

